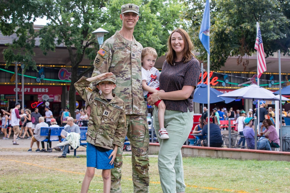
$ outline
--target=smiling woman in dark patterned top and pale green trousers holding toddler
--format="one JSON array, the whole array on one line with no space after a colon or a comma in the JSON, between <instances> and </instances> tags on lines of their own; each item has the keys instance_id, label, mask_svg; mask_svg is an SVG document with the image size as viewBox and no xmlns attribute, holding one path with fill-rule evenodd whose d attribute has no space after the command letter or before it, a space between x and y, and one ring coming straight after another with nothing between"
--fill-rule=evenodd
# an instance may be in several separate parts
<instances>
[{"instance_id":1,"label":"smiling woman in dark patterned top and pale green trousers holding toddler","mask_svg":"<svg viewBox=\"0 0 290 193\"><path fill-rule=\"evenodd\" d=\"M181 147L193 126L193 93L200 76L200 63L192 50L189 35L182 29L171 32L168 38L166 61L160 73L160 90L147 101L154 104L164 100L164 125L169 139L158 139L158 169L163 192L185 192ZM159 129L158 108L155 106L154 128Z\"/></svg>"}]
</instances>

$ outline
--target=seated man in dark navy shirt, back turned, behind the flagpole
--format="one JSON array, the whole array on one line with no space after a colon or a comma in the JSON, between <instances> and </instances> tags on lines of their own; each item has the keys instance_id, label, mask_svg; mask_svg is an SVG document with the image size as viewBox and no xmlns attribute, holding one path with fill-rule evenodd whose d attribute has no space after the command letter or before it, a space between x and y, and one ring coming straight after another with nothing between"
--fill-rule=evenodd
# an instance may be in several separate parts
<instances>
[{"instance_id":1,"label":"seated man in dark navy shirt, back turned, behind the flagpole","mask_svg":"<svg viewBox=\"0 0 290 193\"><path fill-rule=\"evenodd\" d=\"M213 119L209 118L209 140L210 140L210 147L222 147L224 144L224 141L222 140L222 133L220 131L220 127L217 124L213 124ZM204 120L204 127L202 128L201 135L206 137L204 140L201 141L202 146L207 146L207 118Z\"/></svg>"}]
</instances>

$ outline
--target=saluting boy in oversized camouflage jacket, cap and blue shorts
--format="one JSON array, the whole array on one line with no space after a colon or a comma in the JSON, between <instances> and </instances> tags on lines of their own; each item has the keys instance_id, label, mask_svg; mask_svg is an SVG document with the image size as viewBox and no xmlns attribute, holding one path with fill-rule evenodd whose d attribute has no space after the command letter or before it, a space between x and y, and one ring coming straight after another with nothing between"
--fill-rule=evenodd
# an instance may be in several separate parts
<instances>
[{"instance_id":1,"label":"saluting boy in oversized camouflage jacket, cap and blue shorts","mask_svg":"<svg viewBox=\"0 0 290 193\"><path fill-rule=\"evenodd\" d=\"M98 80L97 88L102 94L98 90L91 91L87 88L95 80ZM112 93L115 82L115 75L103 73L91 78L82 77L74 84L79 95L93 109L88 123L87 170L81 193L88 192L95 168L103 170L104 192L110 192L110 170L114 168L111 165L117 155L118 146L123 148L127 132L124 101Z\"/></svg>"}]
</instances>

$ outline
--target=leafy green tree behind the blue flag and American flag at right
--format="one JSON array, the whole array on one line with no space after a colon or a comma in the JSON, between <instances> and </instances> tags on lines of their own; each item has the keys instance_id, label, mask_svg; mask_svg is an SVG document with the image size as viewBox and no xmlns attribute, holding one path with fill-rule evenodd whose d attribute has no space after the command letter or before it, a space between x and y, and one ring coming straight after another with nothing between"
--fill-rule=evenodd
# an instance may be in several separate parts
<instances>
[{"instance_id":1,"label":"leafy green tree behind the blue flag and American flag at right","mask_svg":"<svg viewBox=\"0 0 290 193\"><path fill-rule=\"evenodd\" d=\"M207 53L198 38L205 0L186 1L190 7L184 18L188 21L198 56L206 60ZM224 66L229 56L238 56L237 64L244 70L248 61L243 56L255 52L256 22L260 23L264 51L267 56L277 52L284 54L289 48L289 2L276 0L213 0L211 5L211 69Z\"/></svg>"}]
</instances>

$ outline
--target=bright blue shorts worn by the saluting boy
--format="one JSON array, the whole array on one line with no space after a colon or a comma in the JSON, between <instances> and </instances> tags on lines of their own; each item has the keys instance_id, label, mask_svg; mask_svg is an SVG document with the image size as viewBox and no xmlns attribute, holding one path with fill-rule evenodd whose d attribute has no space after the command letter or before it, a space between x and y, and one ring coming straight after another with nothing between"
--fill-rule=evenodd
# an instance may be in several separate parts
<instances>
[{"instance_id":1,"label":"bright blue shorts worn by the saluting boy","mask_svg":"<svg viewBox=\"0 0 290 193\"><path fill-rule=\"evenodd\" d=\"M87 143L87 167L94 167L101 170L114 168L114 164L110 165L112 157L110 159L108 158L112 151L101 152L93 144Z\"/></svg>"}]
</instances>

